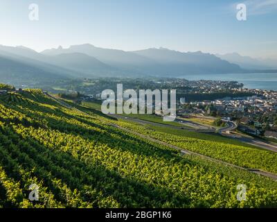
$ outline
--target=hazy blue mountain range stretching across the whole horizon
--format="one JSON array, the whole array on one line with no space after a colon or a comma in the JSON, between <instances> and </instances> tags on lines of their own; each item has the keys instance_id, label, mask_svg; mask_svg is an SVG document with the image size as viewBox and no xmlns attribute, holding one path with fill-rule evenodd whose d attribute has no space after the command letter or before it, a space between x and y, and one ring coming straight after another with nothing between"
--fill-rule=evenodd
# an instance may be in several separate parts
<instances>
[{"instance_id":1,"label":"hazy blue mountain range stretching across the whole horizon","mask_svg":"<svg viewBox=\"0 0 277 222\"><path fill-rule=\"evenodd\" d=\"M47 49L40 53L24 46L0 45L0 80L51 81L94 77L180 77L186 74L227 74L274 66L232 53L180 52L170 49L122 51L92 44L67 49Z\"/></svg>"}]
</instances>

